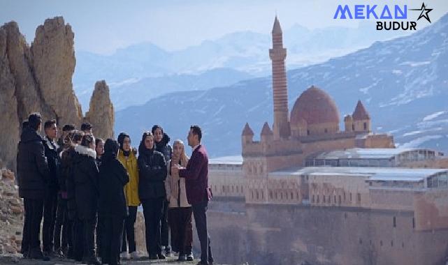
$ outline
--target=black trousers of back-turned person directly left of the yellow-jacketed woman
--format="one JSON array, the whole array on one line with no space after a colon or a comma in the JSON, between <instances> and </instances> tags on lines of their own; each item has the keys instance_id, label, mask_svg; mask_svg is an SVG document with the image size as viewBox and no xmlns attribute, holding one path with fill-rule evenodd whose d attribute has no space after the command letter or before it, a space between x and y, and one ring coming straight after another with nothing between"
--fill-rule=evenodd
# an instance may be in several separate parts
<instances>
[{"instance_id":1,"label":"black trousers of back-turned person directly left of the yellow-jacketed woman","mask_svg":"<svg viewBox=\"0 0 448 265\"><path fill-rule=\"evenodd\" d=\"M101 216L101 220L103 222L101 228L103 233L101 238L101 262L117 265L120 259L124 217Z\"/></svg>"}]
</instances>

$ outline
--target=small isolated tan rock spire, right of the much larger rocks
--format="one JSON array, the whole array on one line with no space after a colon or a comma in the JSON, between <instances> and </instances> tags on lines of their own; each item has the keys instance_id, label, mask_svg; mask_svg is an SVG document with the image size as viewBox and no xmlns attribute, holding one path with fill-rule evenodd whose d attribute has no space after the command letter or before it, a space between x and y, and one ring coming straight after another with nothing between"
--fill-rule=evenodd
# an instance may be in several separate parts
<instances>
[{"instance_id":1,"label":"small isolated tan rock spire, right of the much larger rocks","mask_svg":"<svg viewBox=\"0 0 448 265\"><path fill-rule=\"evenodd\" d=\"M95 83L95 89L90 98L89 111L85 114L85 120L94 126L93 132L103 139L113 138L114 112L110 101L109 86L106 81Z\"/></svg>"}]
</instances>

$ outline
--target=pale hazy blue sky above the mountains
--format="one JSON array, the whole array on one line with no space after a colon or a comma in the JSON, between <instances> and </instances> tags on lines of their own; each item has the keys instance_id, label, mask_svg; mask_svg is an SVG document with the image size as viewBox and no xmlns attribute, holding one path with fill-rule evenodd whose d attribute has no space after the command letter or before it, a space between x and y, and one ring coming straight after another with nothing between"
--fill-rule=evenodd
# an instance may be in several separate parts
<instances>
[{"instance_id":1,"label":"pale hazy blue sky above the mountains","mask_svg":"<svg viewBox=\"0 0 448 265\"><path fill-rule=\"evenodd\" d=\"M276 12L284 29L357 27L354 20L333 20L338 4L355 3L421 6L421 0L0 0L0 24L15 20L30 42L46 18L62 15L75 32L75 50L108 54L142 42L178 50L234 31L269 33ZM448 0L425 3L433 23L448 12Z\"/></svg>"}]
</instances>

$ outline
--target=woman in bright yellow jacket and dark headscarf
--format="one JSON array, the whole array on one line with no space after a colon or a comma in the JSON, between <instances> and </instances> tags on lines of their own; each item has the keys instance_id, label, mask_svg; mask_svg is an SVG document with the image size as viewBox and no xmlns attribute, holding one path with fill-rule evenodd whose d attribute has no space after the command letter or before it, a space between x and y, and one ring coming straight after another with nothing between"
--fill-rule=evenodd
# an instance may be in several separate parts
<instances>
[{"instance_id":1,"label":"woman in bright yellow jacket and dark headscarf","mask_svg":"<svg viewBox=\"0 0 448 265\"><path fill-rule=\"evenodd\" d=\"M129 174L129 183L124 186L124 195L129 209L129 215L124 220L122 252L120 257L128 257L127 245L129 246L129 256L133 259L138 258L136 252L136 239L133 225L136 222L137 208L140 205L138 199L138 165L136 154L131 149L131 137L126 132L121 132L118 135L117 142L120 144L118 151L118 160L122 162Z\"/></svg>"}]
</instances>

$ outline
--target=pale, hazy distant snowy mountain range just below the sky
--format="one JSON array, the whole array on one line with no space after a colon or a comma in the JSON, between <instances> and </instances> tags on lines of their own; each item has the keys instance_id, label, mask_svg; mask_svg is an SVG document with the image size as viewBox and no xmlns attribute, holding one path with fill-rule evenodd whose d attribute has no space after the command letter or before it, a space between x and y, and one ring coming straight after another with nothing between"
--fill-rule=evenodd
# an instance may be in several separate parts
<instances>
[{"instance_id":1,"label":"pale, hazy distant snowy mountain range just below the sky","mask_svg":"<svg viewBox=\"0 0 448 265\"><path fill-rule=\"evenodd\" d=\"M288 66L297 68L326 61L331 57L367 47L374 40L390 38L392 34L387 31L378 31L366 36L363 33L371 29L373 26L361 24L359 28L331 27L309 30L296 24L284 31L284 43L289 49ZM189 90L188 82L183 84L179 83L179 79L172 80L176 75L200 75L217 68L233 69L258 77L269 75L270 59L266 51L270 45L269 31L266 33L243 31L229 33L217 40L205 40L200 45L174 52L167 52L152 43L131 45L108 56L76 52L74 89L80 103L86 109L94 82L106 79L108 84L113 84L115 90L120 90L121 96L125 96L121 102L115 102L113 98L113 103L120 108L129 107L142 103L142 100L145 102L154 96L159 96L160 91ZM226 75L222 73L223 77ZM164 90L149 85L144 96L134 94L132 91L129 93L124 91L129 88L134 88L133 90L136 91L133 83L149 78L145 85L136 84L138 87L143 87L151 84L150 78L154 77L157 77L154 84L163 83ZM208 82L210 86L201 89L230 84L223 82L222 79L215 80L217 82ZM240 81L241 79L229 78L229 80ZM170 86L170 84L174 85ZM182 89L183 87L185 89ZM138 102L134 102L133 98L139 98Z\"/></svg>"}]
</instances>

